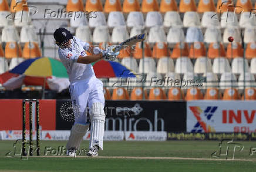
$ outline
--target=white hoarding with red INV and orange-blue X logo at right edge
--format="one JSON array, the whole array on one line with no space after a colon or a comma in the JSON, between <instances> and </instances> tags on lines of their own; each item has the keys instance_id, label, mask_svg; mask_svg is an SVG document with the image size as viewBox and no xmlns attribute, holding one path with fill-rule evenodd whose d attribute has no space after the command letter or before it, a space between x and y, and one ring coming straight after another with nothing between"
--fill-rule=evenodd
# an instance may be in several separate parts
<instances>
[{"instance_id":1,"label":"white hoarding with red INV and orange-blue X logo at right edge","mask_svg":"<svg viewBox=\"0 0 256 172\"><path fill-rule=\"evenodd\" d=\"M187 132L256 132L255 101L188 101Z\"/></svg>"}]
</instances>

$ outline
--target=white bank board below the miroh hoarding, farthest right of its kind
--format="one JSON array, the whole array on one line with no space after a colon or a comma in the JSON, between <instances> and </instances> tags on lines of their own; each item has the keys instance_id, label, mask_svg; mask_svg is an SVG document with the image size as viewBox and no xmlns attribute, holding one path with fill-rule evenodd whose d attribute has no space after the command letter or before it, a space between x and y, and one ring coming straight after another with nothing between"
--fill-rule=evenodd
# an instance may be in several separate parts
<instances>
[{"instance_id":1,"label":"white bank board below the miroh hoarding, farthest right of its kind","mask_svg":"<svg viewBox=\"0 0 256 172\"><path fill-rule=\"evenodd\" d=\"M125 140L129 141L165 141L166 131L126 131Z\"/></svg>"}]
</instances>

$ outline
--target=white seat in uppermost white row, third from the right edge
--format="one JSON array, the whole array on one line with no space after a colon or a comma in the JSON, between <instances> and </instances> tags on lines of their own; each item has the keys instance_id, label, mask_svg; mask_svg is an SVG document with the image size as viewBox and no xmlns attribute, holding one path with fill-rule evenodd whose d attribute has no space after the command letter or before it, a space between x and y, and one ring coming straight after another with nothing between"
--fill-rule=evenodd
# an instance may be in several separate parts
<instances>
[{"instance_id":1,"label":"white seat in uppermost white row, third from the right edge","mask_svg":"<svg viewBox=\"0 0 256 172\"><path fill-rule=\"evenodd\" d=\"M217 15L218 16L218 15ZM217 19L216 12L208 11L204 12L201 26L204 28L218 28L220 27L220 21Z\"/></svg>"}]
</instances>

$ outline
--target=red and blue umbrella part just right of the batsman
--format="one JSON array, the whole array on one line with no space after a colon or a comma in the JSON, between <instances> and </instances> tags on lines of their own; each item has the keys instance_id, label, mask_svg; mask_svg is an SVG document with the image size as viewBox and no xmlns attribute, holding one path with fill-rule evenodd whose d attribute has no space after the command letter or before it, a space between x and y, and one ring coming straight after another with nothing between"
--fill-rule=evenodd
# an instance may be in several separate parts
<instances>
[{"instance_id":1,"label":"red and blue umbrella part just right of the batsman","mask_svg":"<svg viewBox=\"0 0 256 172\"><path fill-rule=\"evenodd\" d=\"M92 65L96 77L136 77L130 69L118 62L100 60Z\"/></svg>"}]
</instances>

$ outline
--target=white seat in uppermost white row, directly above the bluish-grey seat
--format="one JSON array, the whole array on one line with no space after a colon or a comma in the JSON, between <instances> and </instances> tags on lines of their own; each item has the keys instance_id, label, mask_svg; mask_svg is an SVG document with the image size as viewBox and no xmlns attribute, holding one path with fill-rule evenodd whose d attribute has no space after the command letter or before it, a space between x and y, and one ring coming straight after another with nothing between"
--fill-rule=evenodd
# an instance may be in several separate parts
<instances>
[{"instance_id":1,"label":"white seat in uppermost white row, directly above the bluish-grey seat","mask_svg":"<svg viewBox=\"0 0 256 172\"><path fill-rule=\"evenodd\" d=\"M183 18L183 25L184 27L200 26L200 18L197 12L185 12Z\"/></svg>"}]
</instances>

